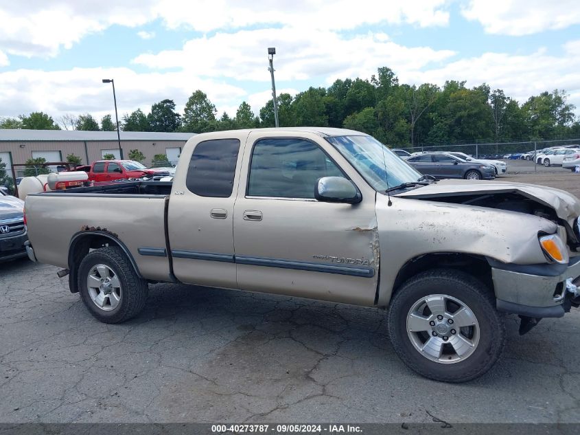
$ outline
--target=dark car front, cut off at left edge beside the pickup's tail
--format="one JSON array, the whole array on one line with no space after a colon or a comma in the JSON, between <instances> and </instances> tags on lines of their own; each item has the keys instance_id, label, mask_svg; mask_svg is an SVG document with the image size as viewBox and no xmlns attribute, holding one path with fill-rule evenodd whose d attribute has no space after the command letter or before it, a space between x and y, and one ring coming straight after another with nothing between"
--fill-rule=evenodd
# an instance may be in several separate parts
<instances>
[{"instance_id":1,"label":"dark car front, cut off at left edge beside the pickup's tail","mask_svg":"<svg viewBox=\"0 0 580 435\"><path fill-rule=\"evenodd\" d=\"M24 201L0 189L0 261L26 256Z\"/></svg>"}]
</instances>

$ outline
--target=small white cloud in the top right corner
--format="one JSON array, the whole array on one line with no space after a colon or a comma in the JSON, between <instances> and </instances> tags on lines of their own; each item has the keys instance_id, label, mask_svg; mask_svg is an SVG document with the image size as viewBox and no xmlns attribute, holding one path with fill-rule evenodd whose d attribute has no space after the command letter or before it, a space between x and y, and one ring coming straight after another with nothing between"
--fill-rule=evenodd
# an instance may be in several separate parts
<instances>
[{"instance_id":1,"label":"small white cloud in the top right corner","mask_svg":"<svg viewBox=\"0 0 580 435\"><path fill-rule=\"evenodd\" d=\"M485 32L521 36L580 23L578 0L469 0L462 10Z\"/></svg>"}]
</instances>

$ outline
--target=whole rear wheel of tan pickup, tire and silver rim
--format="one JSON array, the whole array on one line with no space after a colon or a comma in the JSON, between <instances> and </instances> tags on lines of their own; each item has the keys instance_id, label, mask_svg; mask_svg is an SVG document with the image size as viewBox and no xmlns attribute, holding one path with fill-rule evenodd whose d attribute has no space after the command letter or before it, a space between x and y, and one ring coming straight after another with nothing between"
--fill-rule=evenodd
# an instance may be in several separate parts
<instances>
[{"instance_id":1,"label":"whole rear wheel of tan pickup, tire and silver rim","mask_svg":"<svg viewBox=\"0 0 580 435\"><path fill-rule=\"evenodd\" d=\"M126 254L118 247L89 252L78 268L80 298L90 313L104 323L121 323L139 314L148 294Z\"/></svg>"}]
</instances>

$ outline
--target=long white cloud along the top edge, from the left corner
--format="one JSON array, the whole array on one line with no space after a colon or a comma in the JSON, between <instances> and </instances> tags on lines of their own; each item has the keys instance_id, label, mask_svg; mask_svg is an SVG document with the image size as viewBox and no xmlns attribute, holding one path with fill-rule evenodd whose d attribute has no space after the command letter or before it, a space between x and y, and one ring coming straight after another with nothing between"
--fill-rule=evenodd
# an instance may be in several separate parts
<instances>
[{"instance_id":1,"label":"long white cloud along the top edge, from the left corner","mask_svg":"<svg viewBox=\"0 0 580 435\"><path fill-rule=\"evenodd\" d=\"M87 34L111 25L137 27L160 19L167 27L200 32L251 25L344 30L364 24L447 25L445 0L28 0L3 1L0 49L20 56L56 56Z\"/></svg>"}]
</instances>

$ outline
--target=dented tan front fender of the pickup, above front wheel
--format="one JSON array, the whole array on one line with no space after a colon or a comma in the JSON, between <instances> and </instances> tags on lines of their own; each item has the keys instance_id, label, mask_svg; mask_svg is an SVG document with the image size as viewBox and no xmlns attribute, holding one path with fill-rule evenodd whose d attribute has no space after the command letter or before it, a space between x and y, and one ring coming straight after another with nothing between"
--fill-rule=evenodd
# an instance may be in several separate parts
<instances>
[{"instance_id":1,"label":"dented tan front fender of the pickup, above front wheel","mask_svg":"<svg viewBox=\"0 0 580 435\"><path fill-rule=\"evenodd\" d=\"M546 263L537 241L538 232L553 234L555 223L539 216L377 195L380 242L378 305L391 300L399 270L412 258L426 254L461 253L493 258L501 263Z\"/></svg>"}]
</instances>

